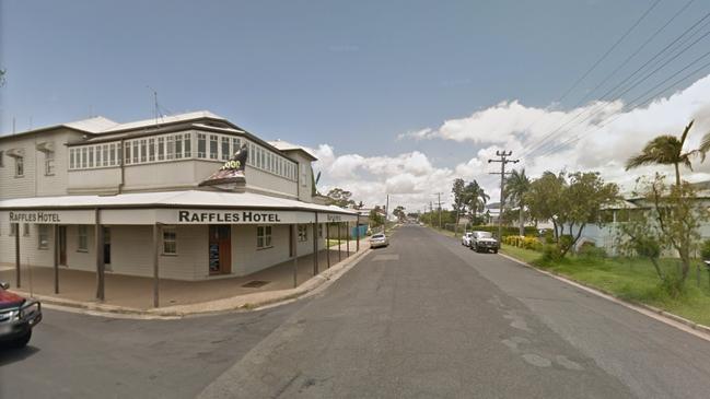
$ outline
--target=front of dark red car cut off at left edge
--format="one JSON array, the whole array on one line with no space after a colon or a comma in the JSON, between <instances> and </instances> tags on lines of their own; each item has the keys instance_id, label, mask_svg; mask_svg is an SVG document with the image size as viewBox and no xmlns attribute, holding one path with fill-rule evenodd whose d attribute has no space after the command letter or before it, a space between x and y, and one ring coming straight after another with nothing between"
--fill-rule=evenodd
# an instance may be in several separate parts
<instances>
[{"instance_id":1,"label":"front of dark red car cut off at left edge","mask_svg":"<svg viewBox=\"0 0 710 399\"><path fill-rule=\"evenodd\" d=\"M10 291L0 283L0 343L22 348L30 342L32 329L42 321L42 304Z\"/></svg>"}]
</instances>

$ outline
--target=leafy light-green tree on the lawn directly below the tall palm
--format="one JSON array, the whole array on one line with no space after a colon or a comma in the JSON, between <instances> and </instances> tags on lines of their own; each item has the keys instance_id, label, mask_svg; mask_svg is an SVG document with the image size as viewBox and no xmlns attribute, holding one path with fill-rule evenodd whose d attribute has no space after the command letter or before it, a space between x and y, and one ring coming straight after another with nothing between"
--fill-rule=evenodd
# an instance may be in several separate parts
<instances>
[{"instance_id":1,"label":"leafy light-green tree on the lawn directly below the tall palm","mask_svg":"<svg viewBox=\"0 0 710 399\"><path fill-rule=\"evenodd\" d=\"M691 265L691 254L700 244L700 225L710 219L707 207L697 199L687 181L668 186L664 176L640 179L645 218L635 218L619 226L619 245L628 253L649 258L662 286L676 297L683 293ZM679 257L678 272L663 270L659 259L663 250Z\"/></svg>"}]
</instances>

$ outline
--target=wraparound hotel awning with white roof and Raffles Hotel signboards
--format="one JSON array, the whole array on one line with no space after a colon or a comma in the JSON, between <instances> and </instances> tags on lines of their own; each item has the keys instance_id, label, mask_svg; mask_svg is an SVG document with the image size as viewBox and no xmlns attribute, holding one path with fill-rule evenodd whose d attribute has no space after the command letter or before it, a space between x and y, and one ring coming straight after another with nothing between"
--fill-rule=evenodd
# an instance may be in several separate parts
<instances>
[{"instance_id":1,"label":"wraparound hotel awning with white roof and Raffles Hotel signboards","mask_svg":"<svg viewBox=\"0 0 710 399\"><path fill-rule=\"evenodd\" d=\"M39 224L292 224L354 222L358 213L253 192L206 190L0 200L0 221Z\"/></svg>"}]
</instances>

